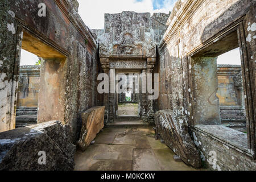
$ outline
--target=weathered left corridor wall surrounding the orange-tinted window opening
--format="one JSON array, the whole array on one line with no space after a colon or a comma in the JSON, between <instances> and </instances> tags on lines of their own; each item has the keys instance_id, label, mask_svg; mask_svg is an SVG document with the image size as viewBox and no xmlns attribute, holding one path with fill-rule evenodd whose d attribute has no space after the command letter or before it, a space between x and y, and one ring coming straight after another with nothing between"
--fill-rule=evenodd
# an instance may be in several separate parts
<instances>
[{"instance_id":1,"label":"weathered left corridor wall surrounding the orange-tinted window opening","mask_svg":"<svg viewBox=\"0 0 256 182\"><path fill-rule=\"evenodd\" d=\"M39 3L46 5L46 16L39 13ZM23 48L44 60L39 122L69 124L75 139L82 111L101 103L96 94L97 44L77 13L77 1L1 1L0 6L0 131L15 128Z\"/></svg>"}]
</instances>

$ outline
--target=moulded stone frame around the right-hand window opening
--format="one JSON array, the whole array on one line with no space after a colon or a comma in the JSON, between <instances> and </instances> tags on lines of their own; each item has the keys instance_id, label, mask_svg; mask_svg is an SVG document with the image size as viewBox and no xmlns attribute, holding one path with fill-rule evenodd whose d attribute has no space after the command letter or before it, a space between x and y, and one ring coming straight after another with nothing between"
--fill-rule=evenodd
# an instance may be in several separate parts
<instances>
[{"instance_id":1,"label":"moulded stone frame around the right-hand window opening","mask_svg":"<svg viewBox=\"0 0 256 182\"><path fill-rule=\"evenodd\" d=\"M245 99L245 106L246 106L246 126L247 126L247 152L241 151L241 148L237 145L234 145L231 140L228 141L228 139L225 139L225 136L214 135L213 133L208 133L207 130L203 130L202 127L197 127L196 122L193 119L193 91L191 89L191 95L190 93L187 98L189 98L189 103L192 104L191 107L189 107L188 110L190 110L191 117L189 117L191 126L195 130L200 130L204 134L212 135L212 137L219 142L228 144L229 146L233 146L235 150L238 152L241 152L243 154L246 154L250 156L253 159L256 159L256 132L255 132L255 108L256 108L256 96L254 94L254 63L253 61L250 61L250 44L246 41L246 16L243 16L242 18L236 20L236 22L233 22L220 32L218 32L216 35L212 36L212 38L208 39L205 43L202 43L201 46L197 47L192 52L188 53L188 85L189 88L192 87L192 72L189 72L189 67L192 65L192 57L196 55L196 53L204 51L207 47L211 46L212 44L216 43L217 40L225 38L225 36L229 35L230 33L237 31L238 35L238 43L240 47L240 51L242 52L241 55L241 67L242 67L242 76L243 76L243 88L244 88L244 94L246 96ZM189 66L190 65L190 66ZM210 125L205 125L206 127L210 128ZM203 127L204 128L204 127ZM229 131L228 131L229 132ZM230 131L231 133L231 131ZM224 137L224 138L223 138Z\"/></svg>"}]
</instances>

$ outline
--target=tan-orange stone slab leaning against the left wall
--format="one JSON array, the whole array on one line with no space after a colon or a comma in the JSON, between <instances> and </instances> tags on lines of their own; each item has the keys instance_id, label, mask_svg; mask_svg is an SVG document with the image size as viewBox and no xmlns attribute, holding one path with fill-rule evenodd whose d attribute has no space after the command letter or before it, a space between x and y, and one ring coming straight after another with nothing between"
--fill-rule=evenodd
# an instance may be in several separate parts
<instances>
[{"instance_id":1,"label":"tan-orange stone slab leaning against the left wall","mask_svg":"<svg viewBox=\"0 0 256 182\"><path fill-rule=\"evenodd\" d=\"M105 107L98 106L82 113L82 128L79 142L79 149L85 151L96 135L104 128Z\"/></svg>"}]
</instances>

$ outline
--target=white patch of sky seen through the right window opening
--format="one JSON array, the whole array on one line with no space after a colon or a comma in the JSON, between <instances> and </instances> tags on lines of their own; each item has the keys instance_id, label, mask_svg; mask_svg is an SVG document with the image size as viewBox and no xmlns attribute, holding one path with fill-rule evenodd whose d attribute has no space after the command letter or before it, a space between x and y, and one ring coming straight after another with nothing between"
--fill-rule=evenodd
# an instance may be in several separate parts
<instances>
[{"instance_id":1,"label":"white patch of sky seen through the right window opening","mask_svg":"<svg viewBox=\"0 0 256 182\"><path fill-rule=\"evenodd\" d=\"M233 49L218 56L217 64L237 64L241 65L240 48Z\"/></svg>"}]
</instances>

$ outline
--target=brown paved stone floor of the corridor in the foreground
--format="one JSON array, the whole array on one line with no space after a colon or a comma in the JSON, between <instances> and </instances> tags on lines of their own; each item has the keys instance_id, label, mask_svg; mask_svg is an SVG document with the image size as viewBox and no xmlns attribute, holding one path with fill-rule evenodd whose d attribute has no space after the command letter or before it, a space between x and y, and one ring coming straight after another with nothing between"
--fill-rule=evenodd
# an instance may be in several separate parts
<instances>
[{"instance_id":1,"label":"brown paved stone floor of the corridor in the foreground","mask_svg":"<svg viewBox=\"0 0 256 182\"><path fill-rule=\"evenodd\" d=\"M174 160L174 153L154 138L150 127L107 127L95 143L75 155L76 171L194 171Z\"/></svg>"}]
</instances>

